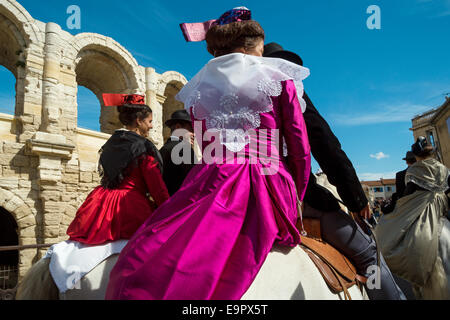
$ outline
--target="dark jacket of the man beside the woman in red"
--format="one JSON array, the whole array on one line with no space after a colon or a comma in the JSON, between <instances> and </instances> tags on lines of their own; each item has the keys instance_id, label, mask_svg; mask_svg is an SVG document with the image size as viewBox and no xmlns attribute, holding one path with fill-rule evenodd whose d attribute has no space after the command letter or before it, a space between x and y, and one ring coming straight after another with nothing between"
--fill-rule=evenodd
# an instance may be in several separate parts
<instances>
[{"instance_id":1,"label":"dark jacket of the man beside the woman in red","mask_svg":"<svg viewBox=\"0 0 450 320\"><path fill-rule=\"evenodd\" d=\"M159 150L163 160L163 179L166 183L167 190L170 195L180 189L184 179L188 175L189 171L194 166L194 150L191 148L190 163L174 164L172 162L171 154L173 148L181 143L181 141L172 141L170 138L166 141L164 146ZM183 151L180 152L180 157L183 157Z\"/></svg>"}]
</instances>

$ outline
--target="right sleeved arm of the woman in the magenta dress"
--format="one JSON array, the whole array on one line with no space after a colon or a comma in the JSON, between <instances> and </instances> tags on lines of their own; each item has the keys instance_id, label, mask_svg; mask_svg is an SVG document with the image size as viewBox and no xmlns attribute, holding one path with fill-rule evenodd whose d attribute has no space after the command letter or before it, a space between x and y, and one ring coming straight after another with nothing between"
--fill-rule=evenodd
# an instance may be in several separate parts
<instances>
[{"instance_id":1,"label":"right sleeved arm of the woman in the magenta dress","mask_svg":"<svg viewBox=\"0 0 450 320\"><path fill-rule=\"evenodd\" d=\"M282 134L288 149L288 165L297 187L298 197L303 201L311 171L311 148L297 90L292 80L284 82L280 104Z\"/></svg>"}]
</instances>

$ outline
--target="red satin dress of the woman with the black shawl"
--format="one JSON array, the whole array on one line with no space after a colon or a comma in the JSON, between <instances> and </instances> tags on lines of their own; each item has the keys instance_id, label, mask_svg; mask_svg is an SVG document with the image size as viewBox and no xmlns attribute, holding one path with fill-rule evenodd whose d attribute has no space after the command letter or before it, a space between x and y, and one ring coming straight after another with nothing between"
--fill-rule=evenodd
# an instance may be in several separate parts
<instances>
[{"instance_id":1,"label":"red satin dress of the woman with the black shawl","mask_svg":"<svg viewBox=\"0 0 450 320\"><path fill-rule=\"evenodd\" d=\"M169 199L169 192L154 158L147 155L133 168L117 189L95 188L78 209L67 229L69 240L99 245L130 239L156 205Z\"/></svg>"}]
</instances>

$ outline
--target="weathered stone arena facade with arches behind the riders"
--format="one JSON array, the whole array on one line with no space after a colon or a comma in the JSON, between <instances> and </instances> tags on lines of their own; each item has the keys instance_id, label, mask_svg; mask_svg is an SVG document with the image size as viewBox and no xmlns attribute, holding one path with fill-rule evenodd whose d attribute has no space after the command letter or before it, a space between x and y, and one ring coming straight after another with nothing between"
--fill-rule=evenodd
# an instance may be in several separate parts
<instances>
[{"instance_id":1,"label":"weathered stone arena facade with arches behind the riders","mask_svg":"<svg viewBox=\"0 0 450 320\"><path fill-rule=\"evenodd\" d=\"M0 206L16 219L20 245L67 239L77 208L98 185L98 150L121 127L102 93L145 94L150 139L161 147L163 123L182 108L174 96L187 82L178 72L138 65L109 37L73 36L37 21L13 0L0 0L0 65L16 78L15 114L0 114ZM102 132L77 126L79 85L99 98ZM45 250L20 251L20 276Z\"/></svg>"}]
</instances>

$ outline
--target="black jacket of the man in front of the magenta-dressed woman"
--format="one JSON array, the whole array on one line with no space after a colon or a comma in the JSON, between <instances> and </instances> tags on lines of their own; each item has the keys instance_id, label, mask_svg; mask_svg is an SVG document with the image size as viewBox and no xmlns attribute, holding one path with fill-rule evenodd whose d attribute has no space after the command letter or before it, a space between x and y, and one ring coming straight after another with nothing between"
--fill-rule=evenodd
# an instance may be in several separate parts
<instances>
[{"instance_id":1,"label":"black jacket of the man in front of the magenta-dressed woman","mask_svg":"<svg viewBox=\"0 0 450 320\"><path fill-rule=\"evenodd\" d=\"M345 206L352 212L361 211L368 201L352 163L341 149L341 144L330 126L319 114L306 93L303 99L306 102L306 111L303 117L308 130L312 155L327 175L328 181L336 187ZM336 198L327 189L317 184L312 173L304 201L318 210L339 210Z\"/></svg>"}]
</instances>

